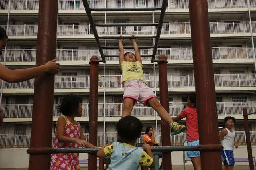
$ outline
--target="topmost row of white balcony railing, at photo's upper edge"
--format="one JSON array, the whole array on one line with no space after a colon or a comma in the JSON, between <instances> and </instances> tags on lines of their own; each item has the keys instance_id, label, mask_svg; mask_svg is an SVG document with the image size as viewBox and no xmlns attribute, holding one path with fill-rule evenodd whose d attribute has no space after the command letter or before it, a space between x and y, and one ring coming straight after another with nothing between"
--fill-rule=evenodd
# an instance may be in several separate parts
<instances>
[{"instance_id":1,"label":"topmost row of white balcony railing, at photo's upper edge","mask_svg":"<svg viewBox=\"0 0 256 170\"><path fill-rule=\"evenodd\" d=\"M149 8L161 7L162 0L88 0L91 8ZM8 10L9 0L0 0L0 10ZM250 0L256 7L256 0ZM39 0L12 0L11 10L38 10ZM248 8L244 0L208 0L209 9ZM84 10L82 0L59 0L59 10ZM168 0L167 10L189 9L188 0Z\"/></svg>"}]
</instances>

